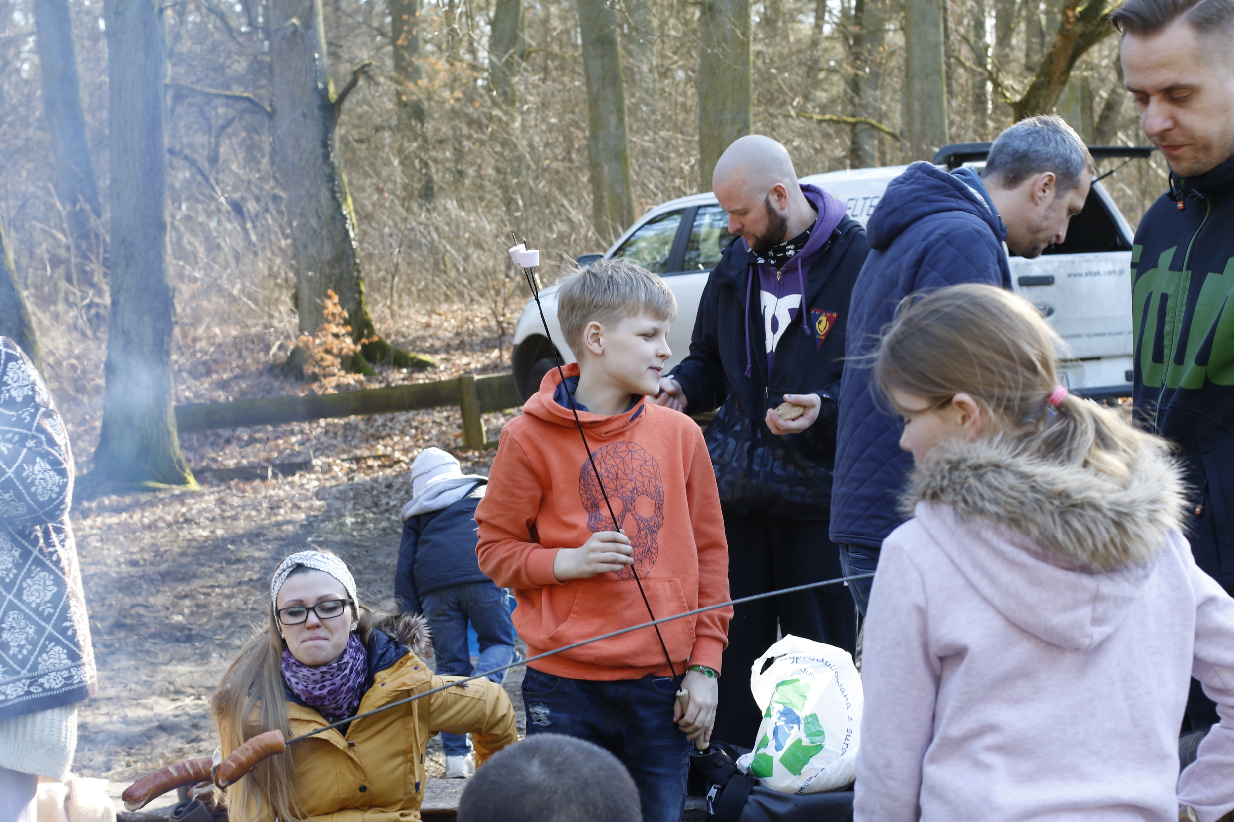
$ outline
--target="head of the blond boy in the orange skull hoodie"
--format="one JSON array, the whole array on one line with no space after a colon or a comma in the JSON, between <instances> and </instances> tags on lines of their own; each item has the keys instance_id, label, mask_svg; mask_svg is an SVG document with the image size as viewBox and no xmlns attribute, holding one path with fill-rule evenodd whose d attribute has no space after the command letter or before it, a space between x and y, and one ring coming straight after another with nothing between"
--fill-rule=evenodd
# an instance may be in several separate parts
<instances>
[{"instance_id":1,"label":"head of the blond boy in the orange skull hoodie","mask_svg":"<svg viewBox=\"0 0 1234 822\"><path fill-rule=\"evenodd\" d=\"M557 292L557 319L580 373L631 394L659 392L676 315L676 297L664 281L621 258L568 275Z\"/></svg>"}]
</instances>

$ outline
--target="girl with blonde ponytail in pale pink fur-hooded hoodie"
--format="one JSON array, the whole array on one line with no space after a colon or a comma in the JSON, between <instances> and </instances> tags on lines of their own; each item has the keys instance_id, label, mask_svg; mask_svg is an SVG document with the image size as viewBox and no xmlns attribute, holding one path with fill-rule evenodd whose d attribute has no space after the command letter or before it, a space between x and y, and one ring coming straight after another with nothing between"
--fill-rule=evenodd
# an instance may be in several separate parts
<instances>
[{"instance_id":1,"label":"girl with blonde ponytail in pale pink fur-hooded hoodie","mask_svg":"<svg viewBox=\"0 0 1234 822\"><path fill-rule=\"evenodd\" d=\"M1169 444L1069 394L1056 343L980 285L882 340L917 467L870 598L858 822L1234 810L1234 600L1192 560ZM1191 677L1222 721L1180 778Z\"/></svg>"}]
</instances>

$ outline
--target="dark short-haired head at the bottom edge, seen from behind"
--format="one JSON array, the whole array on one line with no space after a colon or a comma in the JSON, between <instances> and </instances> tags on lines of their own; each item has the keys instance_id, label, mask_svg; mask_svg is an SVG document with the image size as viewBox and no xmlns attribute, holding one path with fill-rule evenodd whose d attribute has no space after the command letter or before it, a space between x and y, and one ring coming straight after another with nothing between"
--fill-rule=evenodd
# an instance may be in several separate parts
<instances>
[{"instance_id":1,"label":"dark short-haired head at the bottom edge, seen from behind","mask_svg":"<svg viewBox=\"0 0 1234 822\"><path fill-rule=\"evenodd\" d=\"M617 757L584 739L537 733L499 751L468 780L458 822L640 822L638 787Z\"/></svg>"}]
</instances>

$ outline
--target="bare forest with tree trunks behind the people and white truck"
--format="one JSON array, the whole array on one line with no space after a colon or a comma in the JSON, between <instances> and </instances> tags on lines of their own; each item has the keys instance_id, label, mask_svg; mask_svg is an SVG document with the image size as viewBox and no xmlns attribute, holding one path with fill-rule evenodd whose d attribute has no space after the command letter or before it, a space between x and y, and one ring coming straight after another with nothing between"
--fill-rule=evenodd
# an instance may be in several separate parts
<instances>
[{"instance_id":1,"label":"bare forest with tree trunks behind the people and white truck","mask_svg":"<svg viewBox=\"0 0 1234 822\"><path fill-rule=\"evenodd\" d=\"M526 298L511 230L549 260L602 250L706 190L740 134L780 139L800 174L1050 111L1090 143L1143 143L1112 5L0 0L0 260L79 471L101 454L105 478L191 483L169 405L257 391L186 393L206 336L312 371L329 288L362 346L337 370L439 364L399 334L445 307L500 367ZM1107 186L1134 226L1164 166Z\"/></svg>"}]
</instances>

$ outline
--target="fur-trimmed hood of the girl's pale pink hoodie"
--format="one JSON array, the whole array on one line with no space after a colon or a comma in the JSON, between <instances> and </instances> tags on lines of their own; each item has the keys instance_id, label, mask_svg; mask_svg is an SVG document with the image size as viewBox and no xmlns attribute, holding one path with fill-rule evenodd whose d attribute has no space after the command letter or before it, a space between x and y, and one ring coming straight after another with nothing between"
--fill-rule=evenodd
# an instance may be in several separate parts
<instances>
[{"instance_id":1,"label":"fur-trimmed hood of the girl's pale pink hoodie","mask_svg":"<svg viewBox=\"0 0 1234 822\"><path fill-rule=\"evenodd\" d=\"M1180 530L1183 484L1164 447L1146 447L1129 479L1118 481L993 440L932 451L903 503L1011 622L1083 651L1139 600L1169 535Z\"/></svg>"}]
</instances>

